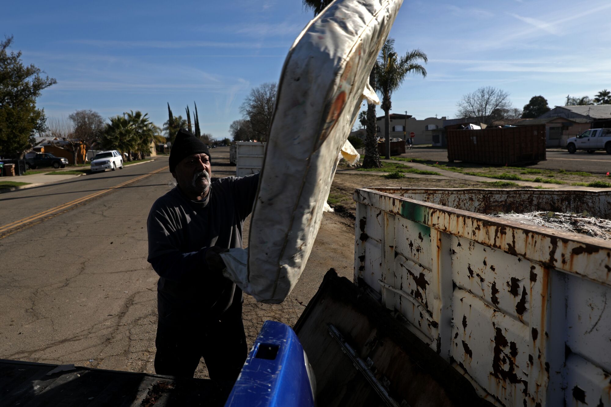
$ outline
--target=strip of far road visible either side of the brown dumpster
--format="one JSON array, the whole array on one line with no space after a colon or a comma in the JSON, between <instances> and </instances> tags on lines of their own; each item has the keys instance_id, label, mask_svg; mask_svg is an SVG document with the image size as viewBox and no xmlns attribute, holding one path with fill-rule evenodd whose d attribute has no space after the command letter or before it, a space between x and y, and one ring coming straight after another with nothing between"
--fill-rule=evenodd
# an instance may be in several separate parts
<instances>
[{"instance_id":1,"label":"strip of far road visible either side of the brown dumpster","mask_svg":"<svg viewBox=\"0 0 611 407\"><path fill-rule=\"evenodd\" d=\"M448 161L448 153L445 149L433 149L427 147L416 147L407 150L403 157L421 158L422 160L433 160L439 163ZM605 174L611 171L611 155L604 151L596 151L593 154L577 152L569 154L564 150L547 150L547 160L538 164L527 166L540 169L564 169L566 171L587 171L595 174Z\"/></svg>"}]
</instances>

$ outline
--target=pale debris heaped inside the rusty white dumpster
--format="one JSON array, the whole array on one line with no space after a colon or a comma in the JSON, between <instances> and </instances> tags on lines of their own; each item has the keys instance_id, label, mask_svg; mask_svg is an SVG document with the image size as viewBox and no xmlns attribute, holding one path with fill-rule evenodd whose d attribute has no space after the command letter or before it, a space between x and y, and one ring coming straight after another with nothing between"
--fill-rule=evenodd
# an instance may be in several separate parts
<instances>
[{"instance_id":1,"label":"pale debris heaped inside the rusty white dumpster","mask_svg":"<svg viewBox=\"0 0 611 407\"><path fill-rule=\"evenodd\" d=\"M517 221L524 224L550 227L565 232L580 233L599 239L611 240L611 220L595 218L587 211L582 213L562 213L553 211L535 211L528 213L499 212L497 218Z\"/></svg>"}]
</instances>

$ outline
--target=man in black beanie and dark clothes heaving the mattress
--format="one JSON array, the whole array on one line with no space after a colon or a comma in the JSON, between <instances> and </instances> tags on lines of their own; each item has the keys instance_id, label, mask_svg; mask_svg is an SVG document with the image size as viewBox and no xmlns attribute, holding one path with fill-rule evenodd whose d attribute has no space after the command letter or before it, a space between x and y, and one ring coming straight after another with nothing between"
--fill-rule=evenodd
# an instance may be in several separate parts
<instances>
[{"instance_id":1,"label":"man in black beanie and dark clothes heaving the mattress","mask_svg":"<svg viewBox=\"0 0 611 407\"><path fill-rule=\"evenodd\" d=\"M178 131L169 160L178 185L148 215L148 262L160 277L155 372L192 377L203 356L210 378L235 381L247 354L243 299L219 252L242 247L259 176L211 182L210 160L207 145Z\"/></svg>"}]
</instances>

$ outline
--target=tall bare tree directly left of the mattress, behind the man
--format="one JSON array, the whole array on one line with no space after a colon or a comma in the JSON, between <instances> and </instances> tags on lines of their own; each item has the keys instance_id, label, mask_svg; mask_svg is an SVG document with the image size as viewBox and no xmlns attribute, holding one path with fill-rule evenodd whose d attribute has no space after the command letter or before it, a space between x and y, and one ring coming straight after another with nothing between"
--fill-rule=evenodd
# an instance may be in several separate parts
<instances>
[{"instance_id":1,"label":"tall bare tree directly left of the mattress, behind the man","mask_svg":"<svg viewBox=\"0 0 611 407\"><path fill-rule=\"evenodd\" d=\"M240 106L244 119L251 122L252 135L258 141L267 141L271 127L274 104L276 103L276 84L266 82L251 89Z\"/></svg>"}]
</instances>

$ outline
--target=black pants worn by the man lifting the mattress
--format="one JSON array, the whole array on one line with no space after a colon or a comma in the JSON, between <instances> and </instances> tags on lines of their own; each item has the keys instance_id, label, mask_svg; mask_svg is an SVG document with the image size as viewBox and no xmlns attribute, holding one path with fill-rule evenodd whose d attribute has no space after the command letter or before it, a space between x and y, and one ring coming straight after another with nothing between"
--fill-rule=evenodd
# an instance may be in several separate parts
<instances>
[{"instance_id":1,"label":"black pants worn by the man lifting the mattress","mask_svg":"<svg viewBox=\"0 0 611 407\"><path fill-rule=\"evenodd\" d=\"M200 358L213 380L235 381L246 361L247 347L241 301L233 301L220 321L189 320L157 325L155 372L192 378Z\"/></svg>"}]
</instances>

